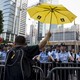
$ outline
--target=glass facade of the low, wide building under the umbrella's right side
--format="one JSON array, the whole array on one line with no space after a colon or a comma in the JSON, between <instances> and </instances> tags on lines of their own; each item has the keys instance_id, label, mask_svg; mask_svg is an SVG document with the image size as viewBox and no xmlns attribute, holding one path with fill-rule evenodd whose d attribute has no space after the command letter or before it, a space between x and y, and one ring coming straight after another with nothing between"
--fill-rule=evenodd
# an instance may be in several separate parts
<instances>
[{"instance_id":1,"label":"glass facade of the low, wide building under the umbrella's right side","mask_svg":"<svg viewBox=\"0 0 80 80\"><path fill-rule=\"evenodd\" d=\"M76 31L67 31L67 32L56 32L54 33L54 41L75 41L78 40L78 35L79 33L77 33ZM53 39L52 39L53 40Z\"/></svg>"}]
</instances>

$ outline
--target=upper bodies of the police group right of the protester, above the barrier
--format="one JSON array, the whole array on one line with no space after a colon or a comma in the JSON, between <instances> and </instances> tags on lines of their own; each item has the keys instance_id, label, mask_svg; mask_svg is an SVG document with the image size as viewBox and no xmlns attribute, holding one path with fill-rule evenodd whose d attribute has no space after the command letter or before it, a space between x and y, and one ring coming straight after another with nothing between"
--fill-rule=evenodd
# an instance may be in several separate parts
<instances>
[{"instance_id":1,"label":"upper bodies of the police group right of the protester, above the barrier","mask_svg":"<svg viewBox=\"0 0 80 80\"><path fill-rule=\"evenodd\" d=\"M33 59L37 59L41 63L50 61L62 63L80 62L80 51L78 51L78 53L75 53L75 49L67 51L66 45L61 43L54 47L44 47L40 54L36 55Z\"/></svg>"}]
</instances>

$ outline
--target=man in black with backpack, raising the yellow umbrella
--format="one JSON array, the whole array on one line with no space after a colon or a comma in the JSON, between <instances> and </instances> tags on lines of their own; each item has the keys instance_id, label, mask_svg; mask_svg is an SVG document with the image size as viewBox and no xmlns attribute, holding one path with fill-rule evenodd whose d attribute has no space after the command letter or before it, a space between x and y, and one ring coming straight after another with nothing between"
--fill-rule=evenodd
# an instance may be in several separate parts
<instances>
[{"instance_id":1,"label":"man in black with backpack, raising the yellow umbrella","mask_svg":"<svg viewBox=\"0 0 80 80\"><path fill-rule=\"evenodd\" d=\"M15 47L8 52L4 80L32 80L32 58L39 54L39 50L46 45L50 37L49 31L39 45L26 46L26 39L17 36Z\"/></svg>"}]
</instances>

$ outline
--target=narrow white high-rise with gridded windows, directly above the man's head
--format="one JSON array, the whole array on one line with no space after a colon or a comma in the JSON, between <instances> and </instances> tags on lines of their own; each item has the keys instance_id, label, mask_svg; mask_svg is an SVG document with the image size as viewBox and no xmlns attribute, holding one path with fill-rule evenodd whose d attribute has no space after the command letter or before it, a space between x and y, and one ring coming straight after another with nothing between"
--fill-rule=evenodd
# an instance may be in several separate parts
<instances>
[{"instance_id":1,"label":"narrow white high-rise with gridded windows, directly above the man's head","mask_svg":"<svg viewBox=\"0 0 80 80\"><path fill-rule=\"evenodd\" d=\"M19 22L19 31L18 35L25 36L26 33L26 3L22 3L21 11L20 11L20 22Z\"/></svg>"}]
</instances>

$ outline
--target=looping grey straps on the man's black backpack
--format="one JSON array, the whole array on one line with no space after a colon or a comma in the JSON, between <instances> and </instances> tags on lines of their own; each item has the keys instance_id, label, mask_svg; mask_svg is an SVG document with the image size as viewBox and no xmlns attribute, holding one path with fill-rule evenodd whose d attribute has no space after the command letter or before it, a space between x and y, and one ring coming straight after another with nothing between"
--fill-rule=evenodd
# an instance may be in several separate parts
<instances>
[{"instance_id":1,"label":"looping grey straps on the man's black backpack","mask_svg":"<svg viewBox=\"0 0 80 80\"><path fill-rule=\"evenodd\" d=\"M14 53L17 53L17 52L18 52L17 59L16 59L12 64L7 64L7 63L8 63L8 58L9 58L9 55L10 55L11 52L14 52ZM21 54L21 53L22 53L22 54ZM19 58L20 55L21 55L21 57ZM5 69L6 69L6 66L13 66L13 65L17 62L17 60L18 60L18 58L19 58L19 60L20 60L21 72L22 72L22 76L23 76L23 80L24 80L24 73L23 73L23 68L22 68L23 56L24 56L24 51L23 51L23 49L21 49L21 48L18 48L18 50L16 50L16 48L11 49L11 50L8 52L8 56L7 56L6 63L5 63ZM12 56L11 58L13 58L13 57L14 57L14 56ZM4 69L4 79L5 79L5 69ZM4 80L4 79L3 79L3 80Z\"/></svg>"}]
</instances>

